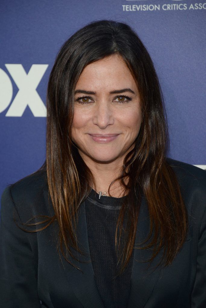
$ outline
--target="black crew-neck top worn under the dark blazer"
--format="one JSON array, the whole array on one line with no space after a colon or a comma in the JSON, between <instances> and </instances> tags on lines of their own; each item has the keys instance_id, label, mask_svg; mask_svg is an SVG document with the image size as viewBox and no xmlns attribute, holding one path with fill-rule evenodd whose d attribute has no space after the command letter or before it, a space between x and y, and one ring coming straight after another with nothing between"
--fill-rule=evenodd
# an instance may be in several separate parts
<instances>
[{"instance_id":1,"label":"black crew-neck top worn under the dark blazer","mask_svg":"<svg viewBox=\"0 0 206 308\"><path fill-rule=\"evenodd\" d=\"M99 199L99 194L91 189L85 201L88 242L95 282L106 308L127 307L130 292L133 252L127 268L117 276L120 265L117 266L118 257L115 250L116 223L124 198L101 196ZM126 217L124 227L125 222ZM121 237L121 249L122 245Z\"/></svg>"}]
</instances>

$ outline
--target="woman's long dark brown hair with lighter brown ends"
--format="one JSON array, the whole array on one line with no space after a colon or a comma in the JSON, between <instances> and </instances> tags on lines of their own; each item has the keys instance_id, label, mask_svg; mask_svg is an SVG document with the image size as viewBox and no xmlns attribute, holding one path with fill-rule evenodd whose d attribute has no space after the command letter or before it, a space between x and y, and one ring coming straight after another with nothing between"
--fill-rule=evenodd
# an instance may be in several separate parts
<instances>
[{"instance_id":1,"label":"woman's long dark brown hair with lighter brown ends","mask_svg":"<svg viewBox=\"0 0 206 308\"><path fill-rule=\"evenodd\" d=\"M114 179L120 180L126 195L116 227L118 253L117 246L120 248L120 237L124 232L123 220L128 213L127 241L119 255L121 272L126 268L133 248L155 247L151 261L163 247L162 261L168 265L185 240L187 213L178 181L165 158L167 124L153 62L138 35L121 22L101 20L86 25L64 43L57 55L48 82L46 162L42 167L46 168L55 215L46 219L46 225L37 231L56 220L64 258L69 262L67 253L74 257L70 247L82 253L76 235L78 209L90 193L90 183L95 185L95 181L72 142L74 90L86 65L112 54L120 55L131 71L140 93L142 111L134 148L124 158L120 177ZM150 233L144 243L150 241L134 247L142 195L146 198L150 218Z\"/></svg>"}]
</instances>

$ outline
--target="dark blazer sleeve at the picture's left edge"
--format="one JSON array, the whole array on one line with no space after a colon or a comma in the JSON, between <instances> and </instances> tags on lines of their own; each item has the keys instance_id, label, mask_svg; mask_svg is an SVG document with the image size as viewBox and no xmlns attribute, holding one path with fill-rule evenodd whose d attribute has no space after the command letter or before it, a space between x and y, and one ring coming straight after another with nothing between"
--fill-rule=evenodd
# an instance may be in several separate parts
<instances>
[{"instance_id":1,"label":"dark blazer sleeve at the picture's left edge","mask_svg":"<svg viewBox=\"0 0 206 308\"><path fill-rule=\"evenodd\" d=\"M10 187L1 198L0 225L0 307L42 307L37 292L37 269L31 233L21 230L14 221L18 214Z\"/></svg>"}]
</instances>

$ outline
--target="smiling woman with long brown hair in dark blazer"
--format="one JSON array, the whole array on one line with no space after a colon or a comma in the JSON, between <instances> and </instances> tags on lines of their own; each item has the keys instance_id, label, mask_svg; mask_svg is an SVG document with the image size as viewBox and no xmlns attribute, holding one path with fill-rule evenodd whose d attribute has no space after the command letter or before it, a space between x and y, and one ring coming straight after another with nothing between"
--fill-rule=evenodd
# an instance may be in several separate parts
<instances>
[{"instance_id":1,"label":"smiling woman with long brown hair in dark blazer","mask_svg":"<svg viewBox=\"0 0 206 308\"><path fill-rule=\"evenodd\" d=\"M205 307L206 173L166 158L158 78L102 20L62 46L42 168L2 195L3 307ZM14 216L13 216L14 215Z\"/></svg>"}]
</instances>

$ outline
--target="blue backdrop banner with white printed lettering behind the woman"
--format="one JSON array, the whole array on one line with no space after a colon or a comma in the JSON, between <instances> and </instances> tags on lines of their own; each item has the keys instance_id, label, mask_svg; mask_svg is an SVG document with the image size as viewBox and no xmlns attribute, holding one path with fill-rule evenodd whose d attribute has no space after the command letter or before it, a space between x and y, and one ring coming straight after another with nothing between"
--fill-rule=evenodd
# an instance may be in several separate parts
<instances>
[{"instance_id":1,"label":"blue backdrop banner with white printed lettering behind the woman","mask_svg":"<svg viewBox=\"0 0 206 308\"><path fill-rule=\"evenodd\" d=\"M43 164L54 59L69 36L100 19L128 23L147 47L164 94L169 156L206 168L206 0L1 0L0 195Z\"/></svg>"}]
</instances>

